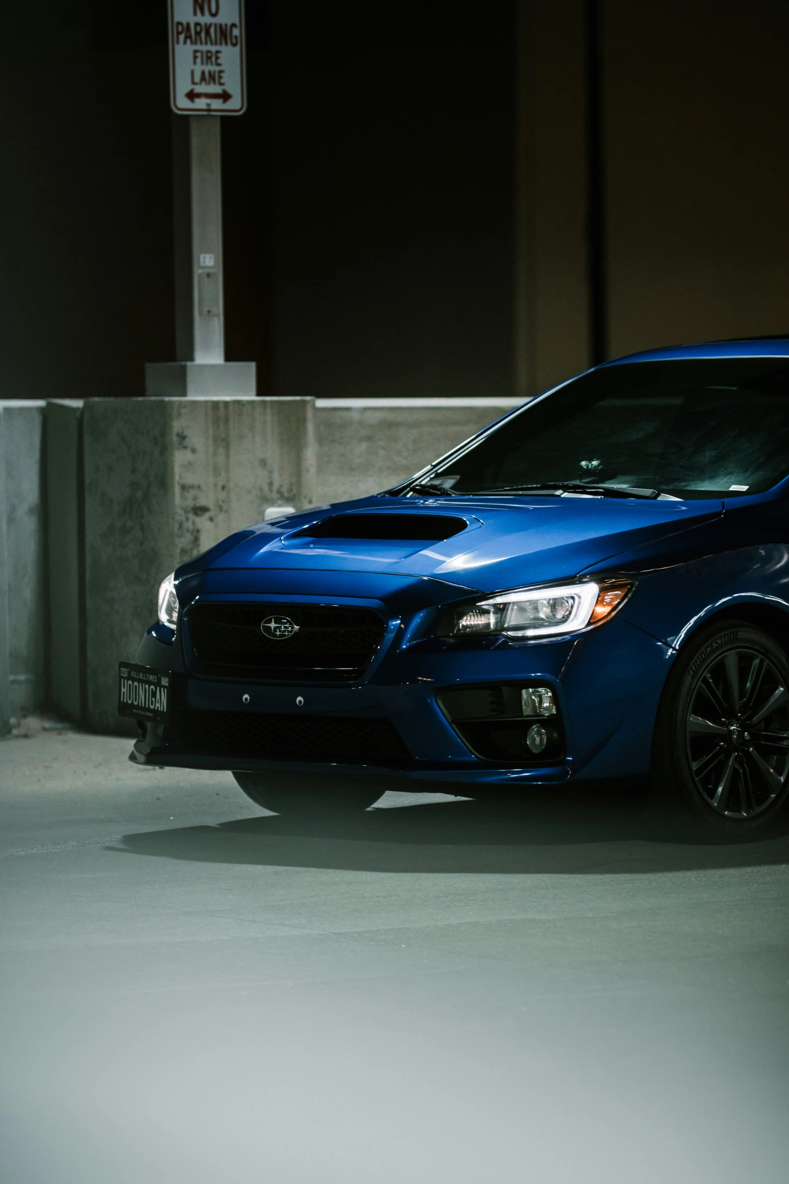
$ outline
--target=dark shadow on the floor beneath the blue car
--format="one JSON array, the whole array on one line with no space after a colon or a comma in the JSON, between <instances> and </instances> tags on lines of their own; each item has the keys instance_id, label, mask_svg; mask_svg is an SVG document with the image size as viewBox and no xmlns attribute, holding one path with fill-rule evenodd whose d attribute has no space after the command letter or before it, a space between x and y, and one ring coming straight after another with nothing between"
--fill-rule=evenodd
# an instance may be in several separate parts
<instances>
[{"instance_id":1,"label":"dark shadow on the floor beneath the blue car","mask_svg":"<svg viewBox=\"0 0 789 1184\"><path fill-rule=\"evenodd\" d=\"M278 815L125 835L110 850L270 867L387 873L634 874L789 862L789 836L700 842L644 794L532 792L513 802L422 802L343 819Z\"/></svg>"}]
</instances>

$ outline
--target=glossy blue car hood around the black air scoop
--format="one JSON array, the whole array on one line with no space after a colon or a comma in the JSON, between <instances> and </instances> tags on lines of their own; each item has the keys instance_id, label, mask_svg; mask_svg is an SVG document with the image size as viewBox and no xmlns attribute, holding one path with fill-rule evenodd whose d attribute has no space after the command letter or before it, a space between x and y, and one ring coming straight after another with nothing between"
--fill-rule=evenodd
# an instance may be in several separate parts
<instances>
[{"instance_id":1,"label":"glossy blue car hood around the black air scoop","mask_svg":"<svg viewBox=\"0 0 789 1184\"><path fill-rule=\"evenodd\" d=\"M328 519L345 514L447 515L463 520L440 541L402 538L332 538ZM433 577L474 591L571 579L645 542L720 516L716 501L635 501L599 497L531 497L503 503L485 498L387 498L321 507L231 536L196 570L376 572ZM465 526L464 526L465 522ZM329 533L326 534L326 525ZM387 522L381 533L386 533ZM311 530L322 530L315 538ZM422 535L425 530L421 532ZM426 527L429 533L429 527ZM436 533L442 533L436 530ZM187 574L181 568L180 573Z\"/></svg>"}]
</instances>

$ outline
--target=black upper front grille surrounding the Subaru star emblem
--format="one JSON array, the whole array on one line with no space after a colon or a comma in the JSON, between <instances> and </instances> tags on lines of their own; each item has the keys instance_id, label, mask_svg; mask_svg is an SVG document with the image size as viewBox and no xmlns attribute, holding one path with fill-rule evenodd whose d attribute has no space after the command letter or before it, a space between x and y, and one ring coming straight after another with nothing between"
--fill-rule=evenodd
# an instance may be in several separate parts
<instances>
[{"instance_id":1,"label":"black upper front grille surrounding the Subaru star emblem","mask_svg":"<svg viewBox=\"0 0 789 1184\"><path fill-rule=\"evenodd\" d=\"M272 616L298 631L266 637L260 625ZM198 674L290 682L361 678L386 630L371 609L297 604L195 604L186 620Z\"/></svg>"}]
</instances>

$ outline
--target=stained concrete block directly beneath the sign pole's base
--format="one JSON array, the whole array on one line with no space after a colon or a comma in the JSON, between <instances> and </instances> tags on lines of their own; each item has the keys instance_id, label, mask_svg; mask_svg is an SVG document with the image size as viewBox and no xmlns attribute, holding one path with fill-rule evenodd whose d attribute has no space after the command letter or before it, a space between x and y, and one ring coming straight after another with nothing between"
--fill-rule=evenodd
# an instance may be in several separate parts
<instances>
[{"instance_id":1,"label":"stained concrete block directly beneath the sign pole's base","mask_svg":"<svg viewBox=\"0 0 789 1184\"><path fill-rule=\"evenodd\" d=\"M90 399L84 471L84 720L123 731L117 663L134 658L174 567L315 500L309 399Z\"/></svg>"}]
</instances>

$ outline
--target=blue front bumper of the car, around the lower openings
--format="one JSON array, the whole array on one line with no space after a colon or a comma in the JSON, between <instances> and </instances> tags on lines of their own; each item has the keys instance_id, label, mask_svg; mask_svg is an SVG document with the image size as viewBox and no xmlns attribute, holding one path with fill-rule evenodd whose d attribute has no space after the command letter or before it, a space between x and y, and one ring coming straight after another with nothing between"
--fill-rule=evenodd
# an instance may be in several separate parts
<instances>
[{"instance_id":1,"label":"blue front bumper of the car, around the lower openings","mask_svg":"<svg viewBox=\"0 0 789 1184\"><path fill-rule=\"evenodd\" d=\"M400 781L465 785L557 785L570 780L644 777L648 773L654 716L673 651L644 631L614 618L570 638L503 644L490 649L441 648L395 639L367 682L345 686L264 683L194 676L175 644L149 630L137 654L144 665L180 674L173 725L148 726L134 747L140 764L212 770L292 770L344 777L390 777ZM519 680L549 684L564 721L561 761L523 766L476 757L442 714L436 691L474 683ZM245 702L245 699L247 700ZM322 720L384 719L402 738L410 759L376 764L267 760L206 755L181 740L190 713L265 713Z\"/></svg>"}]
</instances>

